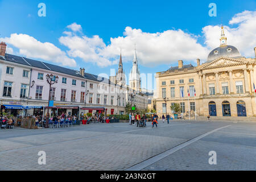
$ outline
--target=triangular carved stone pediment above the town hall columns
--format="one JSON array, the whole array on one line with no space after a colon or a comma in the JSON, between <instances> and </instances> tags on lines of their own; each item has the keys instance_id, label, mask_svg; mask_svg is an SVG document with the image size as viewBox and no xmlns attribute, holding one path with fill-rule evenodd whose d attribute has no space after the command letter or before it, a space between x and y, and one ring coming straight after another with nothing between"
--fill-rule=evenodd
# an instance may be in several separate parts
<instances>
[{"instance_id":1,"label":"triangular carved stone pediment above the town hall columns","mask_svg":"<svg viewBox=\"0 0 256 182\"><path fill-rule=\"evenodd\" d=\"M211 61L210 63L207 63L201 67L203 68L211 68L211 67L225 67L228 65L241 65L241 64L247 64L248 61L244 60L238 60L238 59L233 59L229 57L219 57L216 60Z\"/></svg>"}]
</instances>

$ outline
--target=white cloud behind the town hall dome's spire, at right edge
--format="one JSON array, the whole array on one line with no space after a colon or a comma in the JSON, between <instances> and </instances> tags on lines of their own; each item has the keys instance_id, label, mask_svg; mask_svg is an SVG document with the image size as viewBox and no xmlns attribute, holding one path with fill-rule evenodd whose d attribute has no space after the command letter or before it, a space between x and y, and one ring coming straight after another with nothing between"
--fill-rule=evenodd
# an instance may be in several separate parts
<instances>
[{"instance_id":1,"label":"white cloud behind the town hall dome's spire, at right edge","mask_svg":"<svg viewBox=\"0 0 256 182\"><path fill-rule=\"evenodd\" d=\"M238 48L242 56L253 57L253 48L256 46L256 11L238 13L229 24L230 26L224 26L228 45ZM206 26L203 28L203 34L209 49L220 45L221 26Z\"/></svg>"}]
</instances>

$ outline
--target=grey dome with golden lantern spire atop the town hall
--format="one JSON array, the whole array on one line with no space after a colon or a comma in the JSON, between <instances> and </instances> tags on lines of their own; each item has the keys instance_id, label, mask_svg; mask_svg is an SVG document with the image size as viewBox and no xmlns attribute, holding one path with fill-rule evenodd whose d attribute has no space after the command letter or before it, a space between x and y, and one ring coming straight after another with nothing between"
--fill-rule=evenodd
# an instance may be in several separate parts
<instances>
[{"instance_id":1,"label":"grey dome with golden lantern spire atop the town hall","mask_svg":"<svg viewBox=\"0 0 256 182\"><path fill-rule=\"evenodd\" d=\"M207 63L210 63L213 60L218 59L218 57L230 57L230 58L241 58L241 54L238 51L238 49L234 46L228 46L226 44L226 36L224 33L224 27L221 26L221 38L220 38L220 47L217 47L215 49L213 49L209 55L208 55L208 59L207 59Z\"/></svg>"}]
</instances>

